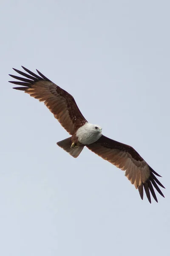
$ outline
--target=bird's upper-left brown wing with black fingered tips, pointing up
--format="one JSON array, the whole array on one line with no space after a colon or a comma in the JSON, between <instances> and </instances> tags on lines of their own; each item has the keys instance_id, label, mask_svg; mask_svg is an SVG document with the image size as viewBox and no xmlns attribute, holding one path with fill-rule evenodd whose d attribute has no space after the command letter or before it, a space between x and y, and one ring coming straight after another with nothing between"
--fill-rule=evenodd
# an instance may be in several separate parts
<instances>
[{"instance_id":1,"label":"bird's upper-left brown wing with black fingered tips, pointing up","mask_svg":"<svg viewBox=\"0 0 170 256\"><path fill-rule=\"evenodd\" d=\"M87 122L79 111L73 96L54 84L38 70L37 72L40 76L25 67L23 69L28 74L20 70L14 70L24 77L9 75L19 80L9 81L10 83L22 86L14 87L14 89L23 90L35 99L39 99L40 102L44 102L47 108L54 114L54 117L71 135Z\"/></svg>"}]
</instances>

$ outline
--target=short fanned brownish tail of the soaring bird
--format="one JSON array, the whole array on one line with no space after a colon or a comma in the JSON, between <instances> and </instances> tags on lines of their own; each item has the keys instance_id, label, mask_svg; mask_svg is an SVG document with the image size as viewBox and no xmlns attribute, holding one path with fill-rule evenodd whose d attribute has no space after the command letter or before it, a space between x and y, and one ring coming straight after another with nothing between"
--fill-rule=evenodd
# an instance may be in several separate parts
<instances>
[{"instance_id":1,"label":"short fanned brownish tail of the soaring bird","mask_svg":"<svg viewBox=\"0 0 170 256\"><path fill-rule=\"evenodd\" d=\"M60 148L63 148L66 152L68 152L72 157L76 158L79 156L79 154L82 152L84 146L78 146L76 148L71 148L71 137L61 140L57 142L57 145Z\"/></svg>"}]
</instances>

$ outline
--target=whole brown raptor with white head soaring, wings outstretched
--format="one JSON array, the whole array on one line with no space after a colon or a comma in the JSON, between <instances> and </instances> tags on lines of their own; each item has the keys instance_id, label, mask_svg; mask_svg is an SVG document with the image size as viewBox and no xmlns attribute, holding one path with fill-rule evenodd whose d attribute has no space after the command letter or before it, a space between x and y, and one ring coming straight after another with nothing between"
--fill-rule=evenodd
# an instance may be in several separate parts
<instances>
[{"instance_id":1,"label":"whole brown raptor with white head soaring, wings outstretched","mask_svg":"<svg viewBox=\"0 0 170 256\"><path fill-rule=\"evenodd\" d=\"M98 156L125 171L125 176L139 190L142 200L143 188L150 203L150 193L158 202L153 187L164 197L159 188L159 186L162 188L164 186L156 178L156 176L161 176L144 161L134 148L105 137L99 125L91 124L85 119L73 96L42 75L40 71L37 70L37 75L25 67L23 69L27 73L14 69L21 77L9 75L17 79L17 81L9 82L20 85L14 89L22 90L35 99L39 99L40 102L44 102L62 127L68 131L71 137L57 142L59 147L76 158L86 146Z\"/></svg>"}]
</instances>

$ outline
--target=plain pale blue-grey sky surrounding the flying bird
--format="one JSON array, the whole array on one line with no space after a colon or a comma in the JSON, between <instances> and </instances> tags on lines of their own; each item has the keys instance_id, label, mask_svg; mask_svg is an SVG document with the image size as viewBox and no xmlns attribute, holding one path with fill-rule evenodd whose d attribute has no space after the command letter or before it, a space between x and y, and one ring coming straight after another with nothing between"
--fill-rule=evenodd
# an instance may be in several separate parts
<instances>
[{"instance_id":1,"label":"plain pale blue-grey sky surrounding the flying bird","mask_svg":"<svg viewBox=\"0 0 170 256\"><path fill-rule=\"evenodd\" d=\"M0 26L0 255L169 256L170 2L7 0ZM68 133L8 83L21 65L132 145L165 198L150 205L111 163L59 148Z\"/></svg>"}]
</instances>

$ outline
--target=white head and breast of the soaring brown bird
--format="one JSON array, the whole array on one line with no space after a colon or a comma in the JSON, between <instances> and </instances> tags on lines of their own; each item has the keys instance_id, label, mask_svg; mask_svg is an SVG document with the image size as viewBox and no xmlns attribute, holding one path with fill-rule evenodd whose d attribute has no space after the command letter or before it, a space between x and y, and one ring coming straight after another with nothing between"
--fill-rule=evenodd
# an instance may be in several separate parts
<instances>
[{"instance_id":1,"label":"white head and breast of the soaring brown bird","mask_svg":"<svg viewBox=\"0 0 170 256\"><path fill-rule=\"evenodd\" d=\"M95 131L94 125L92 126L92 124L87 122L77 130L76 136L78 137L78 141L80 143L88 145L99 140L102 133L101 131Z\"/></svg>"}]
</instances>

